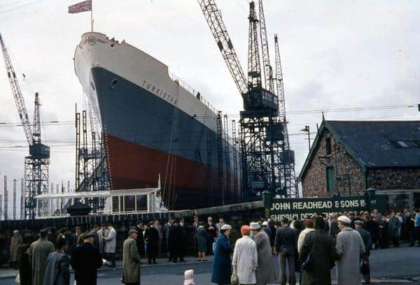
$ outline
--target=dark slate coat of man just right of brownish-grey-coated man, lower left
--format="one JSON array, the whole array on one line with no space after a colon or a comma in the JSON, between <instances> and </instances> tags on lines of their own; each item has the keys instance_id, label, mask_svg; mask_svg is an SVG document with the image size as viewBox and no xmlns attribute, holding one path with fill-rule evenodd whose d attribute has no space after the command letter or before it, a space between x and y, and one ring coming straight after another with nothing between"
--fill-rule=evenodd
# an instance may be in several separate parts
<instances>
[{"instance_id":1,"label":"dark slate coat of man just right of brownish-grey-coated man, lower left","mask_svg":"<svg viewBox=\"0 0 420 285\"><path fill-rule=\"evenodd\" d=\"M51 252L47 258L43 285L69 285L69 264L69 256L64 254L64 252Z\"/></svg>"}]
</instances>

